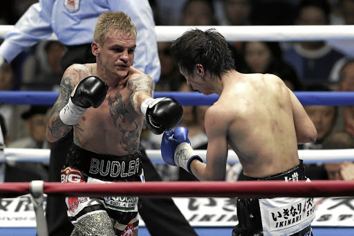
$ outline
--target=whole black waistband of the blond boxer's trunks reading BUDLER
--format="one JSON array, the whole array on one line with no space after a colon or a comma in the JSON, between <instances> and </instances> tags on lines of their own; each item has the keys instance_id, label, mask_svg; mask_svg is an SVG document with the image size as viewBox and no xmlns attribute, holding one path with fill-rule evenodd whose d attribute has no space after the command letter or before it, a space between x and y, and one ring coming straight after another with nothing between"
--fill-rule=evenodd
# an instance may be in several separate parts
<instances>
[{"instance_id":1,"label":"whole black waistband of the blond boxer's trunks reading BUDLER","mask_svg":"<svg viewBox=\"0 0 354 236\"><path fill-rule=\"evenodd\" d=\"M114 156L97 154L73 145L66 165L80 170L85 176L104 181L140 181L142 174L139 151L128 156Z\"/></svg>"}]
</instances>

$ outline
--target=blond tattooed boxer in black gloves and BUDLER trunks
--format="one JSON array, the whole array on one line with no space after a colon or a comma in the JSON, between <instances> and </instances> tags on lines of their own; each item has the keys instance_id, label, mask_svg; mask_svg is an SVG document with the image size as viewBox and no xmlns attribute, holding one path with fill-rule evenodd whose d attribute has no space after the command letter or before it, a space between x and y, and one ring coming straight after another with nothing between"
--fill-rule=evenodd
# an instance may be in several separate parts
<instances>
[{"instance_id":1,"label":"blond tattooed boxer in black gloves and BUDLER trunks","mask_svg":"<svg viewBox=\"0 0 354 236\"><path fill-rule=\"evenodd\" d=\"M136 35L124 12L102 13L91 45L96 63L64 72L46 131L55 142L74 129L63 183L144 182L139 143L145 116L155 134L182 118L182 106L172 98L153 99L152 78L131 66ZM66 204L72 235L138 235L138 197L67 197Z\"/></svg>"}]
</instances>

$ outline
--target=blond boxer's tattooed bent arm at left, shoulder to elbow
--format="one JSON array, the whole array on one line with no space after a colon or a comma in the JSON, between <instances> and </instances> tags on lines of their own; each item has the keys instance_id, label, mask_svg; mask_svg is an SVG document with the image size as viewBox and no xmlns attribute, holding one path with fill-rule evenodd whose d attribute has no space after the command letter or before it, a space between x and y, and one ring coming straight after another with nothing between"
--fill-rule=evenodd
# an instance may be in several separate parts
<instances>
[{"instance_id":1,"label":"blond boxer's tattooed bent arm at left, shoulder to elbow","mask_svg":"<svg viewBox=\"0 0 354 236\"><path fill-rule=\"evenodd\" d=\"M46 137L50 142L55 142L59 138L68 134L73 126L65 125L59 118L59 113L68 104L71 91L75 88L76 84L81 80L83 65L74 64L64 72L62 81L60 82L60 91L57 101L53 105L53 109L50 113L50 120L47 124Z\"/></svg>"}]
</instances>

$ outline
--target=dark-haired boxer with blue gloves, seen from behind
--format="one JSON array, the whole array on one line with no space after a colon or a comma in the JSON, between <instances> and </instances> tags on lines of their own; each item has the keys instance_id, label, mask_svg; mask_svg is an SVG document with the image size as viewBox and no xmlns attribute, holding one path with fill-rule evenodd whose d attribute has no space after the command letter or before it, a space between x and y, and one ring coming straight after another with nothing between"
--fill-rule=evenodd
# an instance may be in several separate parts
<instances>
[{"instance_id":1,"label":"dark-haired boxer with blue gloves, seen from behind","mask_svg":"<svg viewBox=\"0 0 354 236\"><path fill-rule=\"evenodd\" d=\"M166 163L201 181L225 181L230 147L249 181L307 179L297 144L315 142L317 131L283 80L236 71L225 38L214 29L188 30L172 42L171 53L187 84L219 98L205 113L206 163L192 149L185 127L162 136ZM238 199L239 224L232 235L311 235L314 209L313 198Z\"/></svg>"}]
</instances>

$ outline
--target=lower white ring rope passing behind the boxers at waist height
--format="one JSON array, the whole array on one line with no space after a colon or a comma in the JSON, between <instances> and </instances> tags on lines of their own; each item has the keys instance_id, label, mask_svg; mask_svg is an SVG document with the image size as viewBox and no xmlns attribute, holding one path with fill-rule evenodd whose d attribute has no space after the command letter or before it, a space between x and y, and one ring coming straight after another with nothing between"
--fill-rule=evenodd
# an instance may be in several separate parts
<instances>
[{"instance_id":1,"label":"lower white ring rope passing behind the boxers at waist height","mask_svg":"<svg viewBox=\"0 0 354 236\"><path fill-rule=\"evenodd\" d=\"M147 149L147 156L153 163L164 163L161 157L161 150ZM205 161L206 150L195 150L196 154ZM299 158L308 163L318 162L336 162L336 161L354 161L354 149L310 149L298 150ZM4 154L6 161L49 161L50 149L32 149L32 148L5 148ZM1 160L0 161L5 161ZM228 163L239 163L238 156L229 150Z\"/></svg>"}]
</instances>

